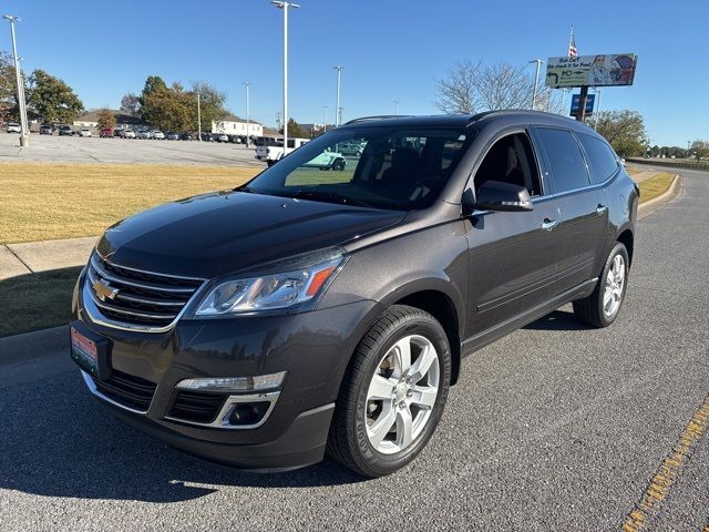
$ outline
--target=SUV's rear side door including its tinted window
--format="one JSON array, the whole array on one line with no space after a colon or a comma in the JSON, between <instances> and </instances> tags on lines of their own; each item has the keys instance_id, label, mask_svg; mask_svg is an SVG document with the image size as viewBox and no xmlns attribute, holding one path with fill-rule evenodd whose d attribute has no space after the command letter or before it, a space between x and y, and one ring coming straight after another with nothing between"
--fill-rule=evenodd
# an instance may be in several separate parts
<instances>
[{"instance_id":1,"label":"SUV's rear side door including its tinted window","mask_svg":"<svg viewBox=\"0 0 709 532\"><path fill-rule=\"evenodd\" d=\"M603 184L593 184L582 147L564 129L535 127L534 137L544 153L542 171L551 183L561 219L558 293L598 275L606 232L608 201Z\"/></svg>"}]
</instances>

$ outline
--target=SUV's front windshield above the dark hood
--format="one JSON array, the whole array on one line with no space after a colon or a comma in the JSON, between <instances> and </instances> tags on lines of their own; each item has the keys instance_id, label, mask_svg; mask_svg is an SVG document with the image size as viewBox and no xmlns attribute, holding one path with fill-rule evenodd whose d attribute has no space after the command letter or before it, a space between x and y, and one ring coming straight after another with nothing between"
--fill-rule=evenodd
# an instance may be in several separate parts
<instances>
[{"instance_id":1,"label":"SUV's front windshield above the dark hood","mask_svg":"<svg viewBox=\"0 0 709 532\"><path fill-rule=\"evenodd\" d=\"M473 131L464 127L333 130L242 190L376 208L425 208L448 183L472 137Z\"/></svg>"}]
</instances>

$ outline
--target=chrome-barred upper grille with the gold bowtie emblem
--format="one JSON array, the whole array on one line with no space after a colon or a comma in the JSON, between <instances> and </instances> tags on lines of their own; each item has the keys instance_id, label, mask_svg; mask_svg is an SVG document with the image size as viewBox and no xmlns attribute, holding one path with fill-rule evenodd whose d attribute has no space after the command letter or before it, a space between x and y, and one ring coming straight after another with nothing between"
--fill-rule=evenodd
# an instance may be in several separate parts
<instances>
[{"instance_id":1,"label":"chrome-barred upper grille with the gold bowtie emblem","mask_svg":"<svg viewBox=\"0 0 709 532\"><path fill-rule=\"evenodd\" d=\"M86 283L94 305L112 321L162 328L175 320L203 279L126 268L94 253Z\"/></svg>"}]
</instances>

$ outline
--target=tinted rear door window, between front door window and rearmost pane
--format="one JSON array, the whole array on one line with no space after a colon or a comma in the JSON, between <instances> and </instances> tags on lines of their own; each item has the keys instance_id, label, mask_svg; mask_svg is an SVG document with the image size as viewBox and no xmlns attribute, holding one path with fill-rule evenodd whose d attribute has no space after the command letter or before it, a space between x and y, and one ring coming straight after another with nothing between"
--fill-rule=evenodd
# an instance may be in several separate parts
<instances>
[{"instance_id":1,"label":"tinted rear door window, between front door window and rearmost pane","mask_svg":"<svg viewBox=\"0 0 709 532\"><path fill-rule=\"evenodd\" d=\"M574 135L565 130L546 127L540 127L536 132L551 165L554 192L562 193L588 186L586 163Z\"/></svg>"}]
</instances>

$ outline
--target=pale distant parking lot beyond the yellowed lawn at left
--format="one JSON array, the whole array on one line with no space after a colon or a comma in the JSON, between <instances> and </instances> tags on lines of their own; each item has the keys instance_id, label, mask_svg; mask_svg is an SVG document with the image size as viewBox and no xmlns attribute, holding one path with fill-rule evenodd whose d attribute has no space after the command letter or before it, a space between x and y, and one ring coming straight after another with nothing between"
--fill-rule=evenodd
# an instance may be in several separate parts
<instances>
[{"instance_id":1,"label":"pale distant parking lot beyond the yellowed lawn at left","mask_svg":"<svg viewBox=\"0 0 709 532\"><path fill-rule=\"evenodd\" d=\"M243 144L197 141L153 141L32 134L19 147L17 134L0 133L0 162L167 163L185 165L258 166L254 149Z\"/></svg>"}]
</instances>

